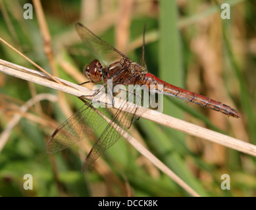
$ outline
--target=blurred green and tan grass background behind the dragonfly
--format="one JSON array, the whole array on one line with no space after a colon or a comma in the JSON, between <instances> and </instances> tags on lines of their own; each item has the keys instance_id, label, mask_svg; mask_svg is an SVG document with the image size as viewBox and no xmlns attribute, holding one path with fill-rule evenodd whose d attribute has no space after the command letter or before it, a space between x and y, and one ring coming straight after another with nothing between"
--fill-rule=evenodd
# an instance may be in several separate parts
<instances>
[{"instance_id":1,"label":"blurred green and tan grass background behind the dragonfly","mask_svg":"<svg viewBox=\"0 0 256 210\"><path fill-rule=\"evenodd\" d=\"M32 20L23 18L25 3L33 5ZM82 69L95 57L76 34L75 22L136 62L146 24L150 73L224 102L243 117L233 119L168 97L164 113L256 143L255 1L44 0L42 10L35 3L0 1L0 37L49 73L74 83L85 81ZM230 19L220 18L222 3L230 5ZM44 17L46 41L47 28L39 27ZM2 43L0 58L36 69ZM20 107L40 93L58 100L42 97L22 113ZM0 94L0 196L190 196L124 138L82 174L84 148L99 132L86 143L47 155L47 138L82 106L78 98L2 73ZM15 116L20 120L14 122ZM256 196L255 158L145 119L129 132L201 196ZM23 188L26 174L33 176L33 190ZM221 190L222 174L230 175L231 190Z\"/></svg>"}]
</instances>

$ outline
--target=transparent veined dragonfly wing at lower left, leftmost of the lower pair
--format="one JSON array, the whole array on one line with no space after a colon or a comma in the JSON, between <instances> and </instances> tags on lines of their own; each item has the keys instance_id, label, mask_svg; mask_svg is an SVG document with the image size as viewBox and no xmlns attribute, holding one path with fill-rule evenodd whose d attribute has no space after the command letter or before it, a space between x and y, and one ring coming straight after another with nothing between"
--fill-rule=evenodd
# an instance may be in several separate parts
<instances>
[{"instance_id":1,"label":"transparent veined dragonfly wing at lower left, leftmost of the lower pair","mask_svg":"<svg viewBox=\"0 0 256 210\"><path fill-rule=\"evenodd\" d=\"M48 154L68 148L72 144L90 136L91 133L103 124L105 119L98 112L95 112L91 102L87 100L84 100L84 102L86 104L76 114L64 121L51 135L46 146ZM107 109L98 108L97 110L105 116L111 117Z\"/></svg>"}]
</instances>

